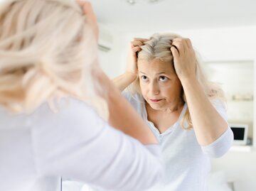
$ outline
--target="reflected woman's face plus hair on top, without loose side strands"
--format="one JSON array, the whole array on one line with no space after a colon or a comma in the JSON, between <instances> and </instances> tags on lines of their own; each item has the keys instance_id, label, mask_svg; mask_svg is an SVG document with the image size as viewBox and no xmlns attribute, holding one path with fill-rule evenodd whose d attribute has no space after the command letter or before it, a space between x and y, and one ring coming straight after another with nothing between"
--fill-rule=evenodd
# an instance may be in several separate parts
<instances>
[{"instance_id":1,"label":"reflected woman's face plus hair on top, without loose side strands","mask_svg":"<svg viewBox=\"0 0 256 191\"><path fill-rule=\"evenodd\" d=\"M153 109L175 110L183 102L183 90L170 50L171 40L176 37L155 34L138 53L139 89Z\"/></svg>"}]
</instances>

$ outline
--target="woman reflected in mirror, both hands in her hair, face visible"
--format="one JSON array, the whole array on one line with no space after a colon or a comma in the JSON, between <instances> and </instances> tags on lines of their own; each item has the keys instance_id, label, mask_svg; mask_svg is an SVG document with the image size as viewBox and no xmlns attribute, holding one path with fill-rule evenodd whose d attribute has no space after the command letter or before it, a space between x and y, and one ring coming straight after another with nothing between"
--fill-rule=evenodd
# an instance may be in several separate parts
<instances>
[{"instance_id":1,"label":"woman reflected in mirror, both hands in her hair, face visible","mask_svg":"<svg viewBox=\"0 0 256 191\"><path fill-rule=\"evenodd\" d=\"M114 79L158 138L165 175L152 190L207 190L210 158L233 143L223 92L208 82L191 40L174 34L134 39L127 70Z\"/></svg>"}]
</instances>

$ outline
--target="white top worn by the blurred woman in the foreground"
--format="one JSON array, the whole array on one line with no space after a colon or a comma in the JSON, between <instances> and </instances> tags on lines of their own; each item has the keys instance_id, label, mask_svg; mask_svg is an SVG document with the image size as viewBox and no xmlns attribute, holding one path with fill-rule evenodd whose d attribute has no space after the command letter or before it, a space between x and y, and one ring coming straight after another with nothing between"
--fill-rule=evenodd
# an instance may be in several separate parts
<instances>
[{"instance_id":1,"label":"white top worn by the blurred woman in the foreground","mask_svg":"<svg viewBox=\"0 0 256 191\"><path fill-rule=\"evenodd\" d=\"M68 101L67 101L68 100ZM0 190L60 190L60 176L110 190L144 190L161 178L161 148L113 129L76 99L53 113L0 108Z\"/></svg>"}]
</instances>

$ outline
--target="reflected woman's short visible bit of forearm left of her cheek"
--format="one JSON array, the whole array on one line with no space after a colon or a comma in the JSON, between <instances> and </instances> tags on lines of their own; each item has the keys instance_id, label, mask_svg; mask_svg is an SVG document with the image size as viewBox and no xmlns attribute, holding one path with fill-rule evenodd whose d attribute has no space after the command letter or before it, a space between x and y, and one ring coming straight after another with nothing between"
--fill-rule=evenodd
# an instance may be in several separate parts
<instances>
[{"instance_id":1,"label":"reflected woman's short visible bit of forearm left of her cheek","mask_svg":"<svg viewBox=\"0 0 256 191\"><path fill-rule=\"evenodd\" d=\"M115 77L112 82L114 83L115 87L119 89L120 92L124 91L125 88L132 84L134 80L136 80L137 75L131 72L125 72L123 75L119 75Z\"/></svg>"}]
</instances>

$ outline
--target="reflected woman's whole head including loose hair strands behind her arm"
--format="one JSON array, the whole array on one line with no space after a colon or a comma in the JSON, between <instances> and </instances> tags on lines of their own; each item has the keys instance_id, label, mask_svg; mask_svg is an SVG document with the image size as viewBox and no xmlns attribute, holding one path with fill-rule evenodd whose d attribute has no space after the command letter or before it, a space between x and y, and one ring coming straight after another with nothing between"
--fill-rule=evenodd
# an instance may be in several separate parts
<instances>
[{"instance_id":1,"label":"reflected woman's whole head including loose hair strands behind her arm","mask_svg":"<svg viewBox=\"0 0 256 191\"><path fill-rule=\"evenodd\" d=\"M142 94L153 109L171 109L175 111L186 102L176 71L174 56L171 53L171 42L180 38L176 34L154 34L141 46L138 53L138 79L131 85L133 93ZM196 77L209 98L223 99L222 90L214 83L208 82L196 58ZM189 126L192 126L189 112L186 112Z\"/></svg>"}]
</instances>

